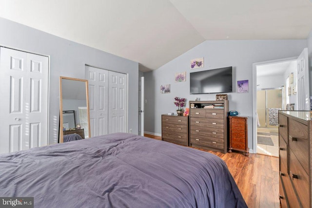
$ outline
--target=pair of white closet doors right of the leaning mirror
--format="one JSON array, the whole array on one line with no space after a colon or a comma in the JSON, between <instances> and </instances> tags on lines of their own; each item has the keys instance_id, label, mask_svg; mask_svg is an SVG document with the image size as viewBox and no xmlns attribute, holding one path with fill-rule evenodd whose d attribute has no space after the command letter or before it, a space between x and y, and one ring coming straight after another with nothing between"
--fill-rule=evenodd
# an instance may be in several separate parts
<instances>
[{"instance_id":1,"label":"pair of white closet doors right of the leaning mirror","mask_svg":"<svg viewBox=\"0 0 312 208\"><path fill-rule=\"evenodd\" d=\"M85 66L91 136L127 132L127 75Z\"/></svg>"}]
</instances>

